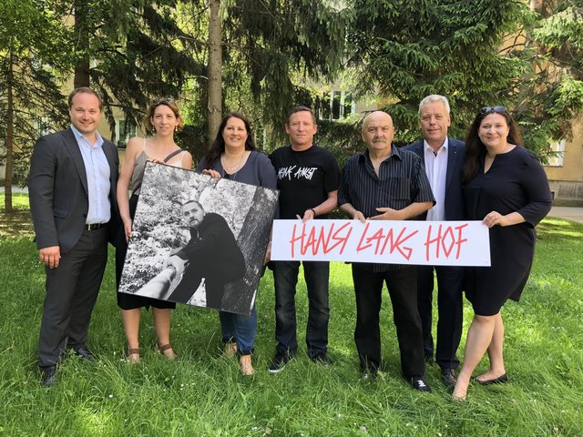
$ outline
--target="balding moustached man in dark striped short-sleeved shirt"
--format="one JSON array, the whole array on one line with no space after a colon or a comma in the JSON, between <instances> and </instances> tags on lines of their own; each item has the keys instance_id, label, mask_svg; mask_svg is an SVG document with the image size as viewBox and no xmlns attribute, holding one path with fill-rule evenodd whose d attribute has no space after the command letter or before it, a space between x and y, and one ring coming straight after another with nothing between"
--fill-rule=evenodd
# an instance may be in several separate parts
<instances>
[{"instance_id":1,"label":"balding moustached man in dark striped short-sleeved shirt","mask_svg":"<svg viewBox=\"0 0 583 437\"><path fill-rule=\"evenodd\" d=\"M435 205L423 163L413 152L393 145L393 118L374 111L363 119L366 150L343 168L338 203L351 219L407 220ZM383 284L393 303L393 319L401 351L401 369L414 390L431 391L424 381L423 330L417 310L416 268L354 262L356 296L354 340L363 377L374 377L381 367L381 310Z\"/></svg>"}]
</instances>

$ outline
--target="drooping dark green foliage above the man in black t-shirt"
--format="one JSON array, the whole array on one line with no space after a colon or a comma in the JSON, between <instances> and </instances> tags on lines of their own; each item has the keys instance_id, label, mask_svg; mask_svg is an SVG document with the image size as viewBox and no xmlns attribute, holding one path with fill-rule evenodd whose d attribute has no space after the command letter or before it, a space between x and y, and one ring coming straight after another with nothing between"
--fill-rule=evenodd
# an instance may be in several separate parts
<instances>
[{"instance_id":1,"label":"drooping dark green foliage above the man in black t-shirt","mask_svg":"<svg viewBox=\"0 0 583 437\"><path fill-rule=\"evenodd\" d=\"M224 22L225 63L238 62L250 77L251 95L262 118L281 131L288 111L306 104L304 86L342 69L350 9L329 2L280 0L228 2Z\"/></svg>"}]
</instances>

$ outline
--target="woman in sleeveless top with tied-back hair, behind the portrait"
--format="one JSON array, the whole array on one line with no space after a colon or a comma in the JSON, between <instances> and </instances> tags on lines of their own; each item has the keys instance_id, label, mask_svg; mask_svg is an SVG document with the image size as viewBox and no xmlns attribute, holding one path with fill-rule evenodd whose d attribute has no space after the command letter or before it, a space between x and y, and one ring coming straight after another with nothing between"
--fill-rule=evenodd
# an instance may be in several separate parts
<instances>
[{"instance_id":1,"label":"woman in sleeveless top with tied-back hair, behind the portrait","mask_svg":"<svg viewBox=\"0 0 583 437\"><path fill-rule=\"evenodd\" d=\"M190 169L192 157L182 150L174 141L174 134L182 129L179 107L170 99L152 103L147 110L144 125L152 137L133 137L128 141L126 154L121 166L118 180L118 206L121 227L116 241L116 279L119 283L128 251L128 239L132 236L132 221L138 206L139 190L144 177L146 162L167 164L169 166ZM131 197L128 197L128 190ZM118 307L128 340L128 362L139 362L139 320L141 308L152 307L154 328L158 339L158 350L169 360L177 358L170 346L170 310L176 304L167 300L123 293L118 291Z\"/></svg>"}]
</instances>

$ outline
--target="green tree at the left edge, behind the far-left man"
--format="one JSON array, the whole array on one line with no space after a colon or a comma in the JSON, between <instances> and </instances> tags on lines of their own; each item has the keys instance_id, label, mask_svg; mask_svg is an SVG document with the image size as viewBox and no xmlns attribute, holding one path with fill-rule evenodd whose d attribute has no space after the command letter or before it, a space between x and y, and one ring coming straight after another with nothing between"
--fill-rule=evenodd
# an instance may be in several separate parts
<instances>
[{"instance_id":1,"label":"green tree at the left edge, behind the far-left man","mask_svg":"<svg viewBox=\"0 0 583 437\"><path fill-rule=\"evenodd\" d=\"M5 146L5 211L12 211L14 168L25 170L44 128L63 127L67 108L59 91L64 34L55 11L36 0L0 4L0 142ZM26 166L27 167L27 166ZM25 173L26 171L23 171Z\"/></svg>"}]
</instances>

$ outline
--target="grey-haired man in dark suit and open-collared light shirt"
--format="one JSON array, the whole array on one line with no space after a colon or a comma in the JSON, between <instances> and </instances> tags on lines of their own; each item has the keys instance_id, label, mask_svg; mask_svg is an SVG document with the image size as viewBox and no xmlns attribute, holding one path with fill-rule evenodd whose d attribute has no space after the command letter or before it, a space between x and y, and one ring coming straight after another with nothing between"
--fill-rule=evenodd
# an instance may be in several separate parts
<instances>
[{"instance_id":1,"label":"grey-haired man in dark suit and open-collared light shirt","mask_svg":"<svg viewBox=\"0 0 583 437\"><path fill-rule=\"evenodd\" d=\"M465 219L462 196L462 164L465 144L447 137L450 126L449 102L438 95L425 97L419 104L419 125L424 137L404 147L416 153L424 163L425 173L434 192L435 206L418 219ZM417 306L424 334L424 354L428 363L434 360L431 335L434 270L437 276L437 351L435 361L441 368L446 386L455 385L455 356L462 336L463 269L449 266L417 266Z\"/></svg>"}]
</instances>

